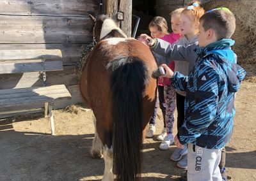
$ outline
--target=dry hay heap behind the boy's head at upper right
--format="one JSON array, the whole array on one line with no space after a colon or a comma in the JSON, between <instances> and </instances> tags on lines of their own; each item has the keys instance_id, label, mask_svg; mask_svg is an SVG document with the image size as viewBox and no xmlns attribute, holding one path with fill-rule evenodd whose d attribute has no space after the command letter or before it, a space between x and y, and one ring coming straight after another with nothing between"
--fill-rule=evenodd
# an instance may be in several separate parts
<instances>
[{"instance_id":1,"label":"dry hay heap behind the boy's head at upper right","mask_svg":"<svg viewBox=\"0 0 256 181\"><path fill-rule=\"evenodd\" d=\"M204 4L206 11L218 7L227 7L236 16L234 52L246 70L246 80L256 83L256 1L211 0Z\"/></svg>"}]
</instances>

